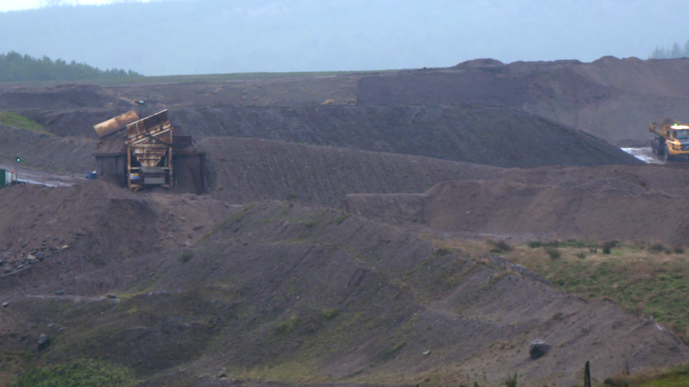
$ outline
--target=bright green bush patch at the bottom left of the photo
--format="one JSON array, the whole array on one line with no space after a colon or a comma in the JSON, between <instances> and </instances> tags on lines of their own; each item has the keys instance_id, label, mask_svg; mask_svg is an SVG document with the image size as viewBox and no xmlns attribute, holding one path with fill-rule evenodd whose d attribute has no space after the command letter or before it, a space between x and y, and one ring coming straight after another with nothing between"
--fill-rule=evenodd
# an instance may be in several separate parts
<instances>
[{"instance_id":1,"label":"bright green bush patch at the bottom left of the photo","mask_svg":"<svg viewBox=\"0 0 689 387\"><path fill-rule=\"evenodd\" d=\"M134 371L97 360L32 369L21 374L14 387L130 387L136 385Z\"/></svg>"}]
</instances>

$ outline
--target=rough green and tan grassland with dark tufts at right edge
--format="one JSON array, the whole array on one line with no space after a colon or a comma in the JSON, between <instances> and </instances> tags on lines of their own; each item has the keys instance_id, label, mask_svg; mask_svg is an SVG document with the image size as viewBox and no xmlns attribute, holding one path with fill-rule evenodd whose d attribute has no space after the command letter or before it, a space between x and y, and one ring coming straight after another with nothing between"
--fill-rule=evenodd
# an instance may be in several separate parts
<instances>
[{"instance_id":1,"label":"rough green and tan grassland with dark tufts at right edge","mask_svg":"<svg viewBox=\"0 0 689 387\"><path fill-rule=\"evenodd\" d=\"M652 316L675 333L689 338L689 300L686 297L689 257L683 249L676 249L678 253L659 254L665 249L656 245L616 243L613 254L577 247L558 247L557 250L558 259L553 259L553 254L545 249L522 246L506 258L544 276L565 291L589 300L608 298L632 314Z\"/></svg>"}]
</instances>

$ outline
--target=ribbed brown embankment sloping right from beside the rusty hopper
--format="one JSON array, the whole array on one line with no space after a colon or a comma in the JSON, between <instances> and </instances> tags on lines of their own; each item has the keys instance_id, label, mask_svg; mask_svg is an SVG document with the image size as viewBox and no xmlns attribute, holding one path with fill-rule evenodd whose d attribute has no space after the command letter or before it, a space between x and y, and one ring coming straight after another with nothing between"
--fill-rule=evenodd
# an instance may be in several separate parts
<instances>
[{"instance_id":1,"label":"ribbed brown embankment sloping right from beside the rusty hopper","mask_svg":"<svg viewBox=\"0 0 689 387\"><path fill-rule=\"evenodd\" d=\"M210 195L230 203L288 199L337 207L349 193L424 192L447 180L496 176L501 168L428 157L209 137Z\"/></svg>"}]
</instances>

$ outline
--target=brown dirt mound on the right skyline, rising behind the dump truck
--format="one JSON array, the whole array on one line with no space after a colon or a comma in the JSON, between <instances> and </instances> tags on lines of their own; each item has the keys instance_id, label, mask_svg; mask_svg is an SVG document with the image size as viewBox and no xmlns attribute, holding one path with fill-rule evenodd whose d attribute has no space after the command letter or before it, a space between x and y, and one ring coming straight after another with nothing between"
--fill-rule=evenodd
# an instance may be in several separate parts
<instances>
[{"instance_id":1,"label":"brown dirt mound on the right skyline, rising behind the dump truck","mask_svg":"<svg viewBox=\"0 0 689 387\"><path fill-rule=\"evenodd\" d=\"M480 65L480 63L479 63ZM614 144L645 145L646 125L684 120L689 59L604 57L578 61L460 65L450 70L371 75L359 80L360 104L499 104L584 130Z\"/></svg>"}]
</instances>

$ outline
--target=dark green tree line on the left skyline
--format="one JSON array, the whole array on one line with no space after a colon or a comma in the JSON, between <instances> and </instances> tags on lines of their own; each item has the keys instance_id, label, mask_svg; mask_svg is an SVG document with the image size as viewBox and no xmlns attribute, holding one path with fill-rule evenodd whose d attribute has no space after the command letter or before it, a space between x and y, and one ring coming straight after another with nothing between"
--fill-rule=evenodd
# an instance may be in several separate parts
<instances>
[{"instance_id":1,"label":"dark green tree line on the left skyline","mask_svg":"<svg viewBox=\"0 0 689 387\"><path fill-rule=\"evenodd\" d=\"M0 54L0 82L31 80L90 80L101 78L143 77L132 70L112 68L100 70L86 63L53 61L47 56L41 59L22 55L15 51Z\"/></svg>"}]
</instances>

